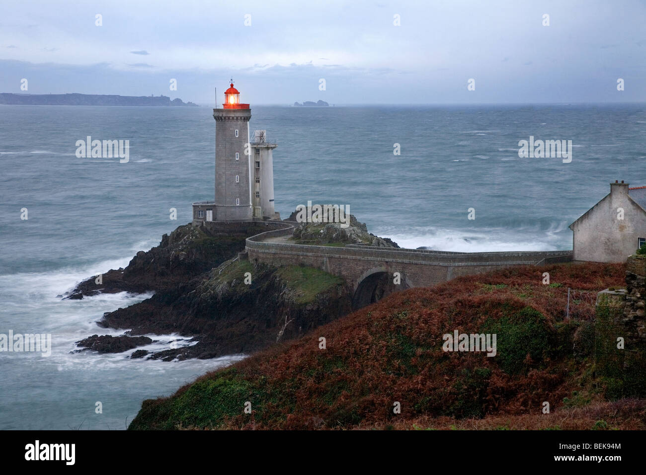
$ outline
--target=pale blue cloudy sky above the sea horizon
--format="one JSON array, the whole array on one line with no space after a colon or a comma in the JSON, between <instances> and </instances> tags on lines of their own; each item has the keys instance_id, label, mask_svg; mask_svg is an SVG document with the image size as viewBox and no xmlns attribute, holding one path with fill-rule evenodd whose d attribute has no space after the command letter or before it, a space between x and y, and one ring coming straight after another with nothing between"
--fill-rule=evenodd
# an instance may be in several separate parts
<instances>
[{"instance_id":1,"label":"pale blue cloudy sky above the sea horizon","mask_svg":"<svg viewBox=\"0 0 646 475\"><path fill-rule=\"evenodd\" d=\"M0 92L212 105L233 77L252 104L646 101L644 0L2 3Z\"/></svg>"}]
</instances>

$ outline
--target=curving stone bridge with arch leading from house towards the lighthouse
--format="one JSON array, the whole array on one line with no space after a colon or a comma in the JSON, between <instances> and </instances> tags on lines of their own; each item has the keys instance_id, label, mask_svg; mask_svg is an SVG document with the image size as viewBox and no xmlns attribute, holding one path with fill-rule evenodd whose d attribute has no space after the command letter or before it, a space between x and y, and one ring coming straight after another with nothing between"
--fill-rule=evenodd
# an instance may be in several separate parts
<instances>
[{"instance_id":1,"label":"curving stone bridge with arch leading from house towards the lighthouse","mask_svg":"<svg viewBox=\"0 0 646 475\"><path fill-rule=\"evenodd\" d=\"M353 309L376 302L393 291L433 286L461 275L572 260L572 251L462 253L377 248L362 244L310 246L289 242L297 223L266 224L278 229L247 238L246 252L251 262L313 266L342 277L352 288ZM400 276L399 284L394 283L396 272Z\"/></svg>"}]
</instances>

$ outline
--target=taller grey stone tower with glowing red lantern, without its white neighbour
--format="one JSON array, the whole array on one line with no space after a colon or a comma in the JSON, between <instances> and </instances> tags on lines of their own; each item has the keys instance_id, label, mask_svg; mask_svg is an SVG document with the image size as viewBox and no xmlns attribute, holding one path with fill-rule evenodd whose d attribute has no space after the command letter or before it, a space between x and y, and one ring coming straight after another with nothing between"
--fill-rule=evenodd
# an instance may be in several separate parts
<instances>
[{"instance_id":1,"label":"taller grey stone tower with glowing red lantern, without its white neighbour","mask_svg":"<svg viewBox=\"0 0 646 475\"><path fill-rule=\"evenodd\" d=\"M222 109L213 109L215 125L214 220L251 220L251 151L249 150L249 104L240 103L240 92L224 92ZM246 152L246 153L245 153Z\"/></svg>"}]
</instances>

